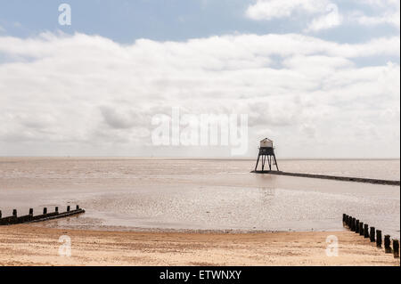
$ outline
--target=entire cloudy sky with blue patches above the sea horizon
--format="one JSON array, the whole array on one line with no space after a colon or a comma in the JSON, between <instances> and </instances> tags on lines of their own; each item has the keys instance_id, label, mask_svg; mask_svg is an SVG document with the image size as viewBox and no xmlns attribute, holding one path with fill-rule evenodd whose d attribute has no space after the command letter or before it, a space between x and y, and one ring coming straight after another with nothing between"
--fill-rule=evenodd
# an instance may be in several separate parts
<instances>
[{"instance_id":1,"label":"entire cloudy sky with blue patches above the sea horizon","mask_svg":"<svg viewBox=\"0 0 401 284\"><path fill-rule=\"evenodd\" d=\"M0 0L0 156L231 156L152 119L248 115L249 150L399 158L399 0Z\"/></svg>"}]
</instances>

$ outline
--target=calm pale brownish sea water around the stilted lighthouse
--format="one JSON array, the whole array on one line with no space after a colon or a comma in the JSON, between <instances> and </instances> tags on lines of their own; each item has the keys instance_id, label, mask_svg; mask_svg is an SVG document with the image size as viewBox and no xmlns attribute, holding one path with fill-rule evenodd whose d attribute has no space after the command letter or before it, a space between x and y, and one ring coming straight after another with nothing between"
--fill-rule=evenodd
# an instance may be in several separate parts
<instances>
[{"instance_id":1,"label":"calm pale brownish sea water around the stilted lighthouse","mask_svg":"<svg viewBox=\"0 0 401 284\"><path fill-rule=\"evenodd\" d=\"M342 230L342 213L399 238L400 188L250 174L254 160L0 158L0 210L79 204L37 223L94 230ZM281 170L399 180L394 160L279 160Z\"/></svg>"}]
</instances>

